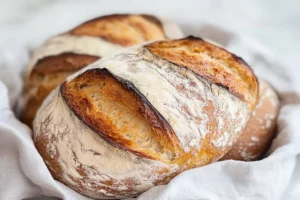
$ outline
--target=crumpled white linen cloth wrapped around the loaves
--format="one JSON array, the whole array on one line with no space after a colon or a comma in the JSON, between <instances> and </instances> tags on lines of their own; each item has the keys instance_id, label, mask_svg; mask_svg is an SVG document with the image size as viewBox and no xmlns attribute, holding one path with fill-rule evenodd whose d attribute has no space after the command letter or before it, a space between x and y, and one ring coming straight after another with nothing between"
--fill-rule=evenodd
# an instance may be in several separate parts
<instances>
[{"instance_id":1,"label":"crumpled white linen cloth wrapped around the loaves","mask_svg":"<svg viewBox=\"0 0 300 200\"><path fill-rule=\"evenodd\" d=\"M187 35L212 39L243 57L282 98L290 98L286 94L300 93L296 81L290 78L293 73L300 74L300 69L281 64L252 39L210 24L182 25ZM47 34L40 36L32 46L44 40ZM34 147L31 130L15 117L13 108L22 88L21 73L28 61L26 46L0 48L0 199L40 199L41 195L67 200L89 199L52 178ZM265 159L222 161L188 170L168 185L154 187L138 199L300 199L299 122L300 104L284 105L278 118L279 133Z\"/></svg>"}]
</instances>

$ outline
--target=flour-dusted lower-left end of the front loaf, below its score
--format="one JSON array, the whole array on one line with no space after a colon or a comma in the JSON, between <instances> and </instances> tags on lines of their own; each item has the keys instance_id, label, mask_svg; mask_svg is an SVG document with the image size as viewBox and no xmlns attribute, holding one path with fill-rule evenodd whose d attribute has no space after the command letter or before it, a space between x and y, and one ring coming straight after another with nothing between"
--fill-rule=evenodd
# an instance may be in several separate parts
<instances>
[{"instance_id":1,"label":"flour-dusted lower-left end of the front loaf, below its score","mask_svg":"<svg viewBox=\"0 0 300 200\"><path fill-rule=\"evenodd\" d=\"M178 173L175 165L135 156L107 143L81 123L58 88L55 91L35 119L34 142L56 180L94 199L119 199L166 184Z\"/></svg>"}]
</instances>

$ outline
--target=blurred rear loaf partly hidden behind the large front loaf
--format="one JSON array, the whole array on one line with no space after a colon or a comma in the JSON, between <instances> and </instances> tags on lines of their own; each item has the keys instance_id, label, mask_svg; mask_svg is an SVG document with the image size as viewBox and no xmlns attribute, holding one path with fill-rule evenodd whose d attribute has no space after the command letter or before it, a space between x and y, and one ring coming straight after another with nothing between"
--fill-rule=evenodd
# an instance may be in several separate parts
<instances>
[{"instance_id":1,"label":"blurred rear loaf partly hidden behind the large front loaf","mask_svg":"<svg viewBox=\"0 0 300 200\"><path fill-rule=\"evenodd\" d=\"M66 77L99 58L152 40L180 38L174 23L150 15L109 15L50 38L27 67L21 120L29 126L46 96Z\"/></svg>"}]
</instances>

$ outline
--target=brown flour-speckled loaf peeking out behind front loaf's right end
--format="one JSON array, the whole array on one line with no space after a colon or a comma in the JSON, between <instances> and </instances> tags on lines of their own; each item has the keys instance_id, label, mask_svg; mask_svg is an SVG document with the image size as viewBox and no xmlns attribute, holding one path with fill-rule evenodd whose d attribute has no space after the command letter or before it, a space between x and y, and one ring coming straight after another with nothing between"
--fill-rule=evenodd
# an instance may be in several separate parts
<instances>
[{"instance_id":1,"label":"brown flour-speckled loaf peeking out behind front loaf's right end","mask_svg":"<svg viewBox=\"0 0 300 200\"><path fill-rule=\"evenodd\" d=\"M245 130L232 149L221 160L259 159L269 148L275 136L279 100L265 81L259 80L259 98Z\"/></svg>"}]
</instances>

